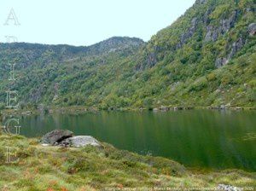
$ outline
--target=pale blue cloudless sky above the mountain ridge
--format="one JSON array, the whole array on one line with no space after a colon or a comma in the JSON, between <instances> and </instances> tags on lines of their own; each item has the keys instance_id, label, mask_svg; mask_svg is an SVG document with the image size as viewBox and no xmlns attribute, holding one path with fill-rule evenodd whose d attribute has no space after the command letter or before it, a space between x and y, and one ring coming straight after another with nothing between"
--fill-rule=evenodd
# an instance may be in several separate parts
<instances>
[{"instance_id":1,"label":"pale blue cloudless sky above the mountain ridge","mask_svg":"<svg viewBox=\"0 0 256 191\"><path fill-rule=\"evenodd\" d=\"M148 41L193 3L195 0L0 0L0 42L15 37L9 42L88 46L114 36Z\"/></svg>"}]
</instances>

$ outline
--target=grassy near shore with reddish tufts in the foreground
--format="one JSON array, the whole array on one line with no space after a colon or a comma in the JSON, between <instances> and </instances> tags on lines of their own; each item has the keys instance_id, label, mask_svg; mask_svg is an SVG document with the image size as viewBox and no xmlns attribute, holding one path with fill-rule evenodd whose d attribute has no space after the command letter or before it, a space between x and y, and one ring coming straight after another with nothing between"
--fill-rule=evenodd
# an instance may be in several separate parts
<instances>
[{"instance_id":1,"label":"grassy near shore with reddish tufts in the foreground","mask_svg":"<svg viewBox=\"0 0 256 191\"><path fill-rule=\"evenodd\" d=\"M256 173L193 171L171 159L113 148L43 147L36 138L0 136L1 190L109 190L125 188L255 188ZM18 161L6 163L6 148Z\"/></svg>"}]
</instances>

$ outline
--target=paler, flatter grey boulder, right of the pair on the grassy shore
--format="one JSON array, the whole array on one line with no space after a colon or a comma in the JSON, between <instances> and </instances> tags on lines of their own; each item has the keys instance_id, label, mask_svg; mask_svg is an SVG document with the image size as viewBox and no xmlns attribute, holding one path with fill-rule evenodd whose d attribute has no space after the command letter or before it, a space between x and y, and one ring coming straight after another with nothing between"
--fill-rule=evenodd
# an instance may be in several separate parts
<instances>
[{"instance_id":1,"label":"paler, flatter grey boulder, right of the pair on the grassy shore","mask_svg":"<svg viewBox=\"0 0 256 191\"><path fill-rule=\"evenodd\" d=\"M63 146L71 146L75 148L84 147L87 145L95 146L95 147L101 147L100 142L98 142L94 137L92 136L73 136L70 138L67 138L60 142L60 145Z\"/></svg>"}]
</instances>

